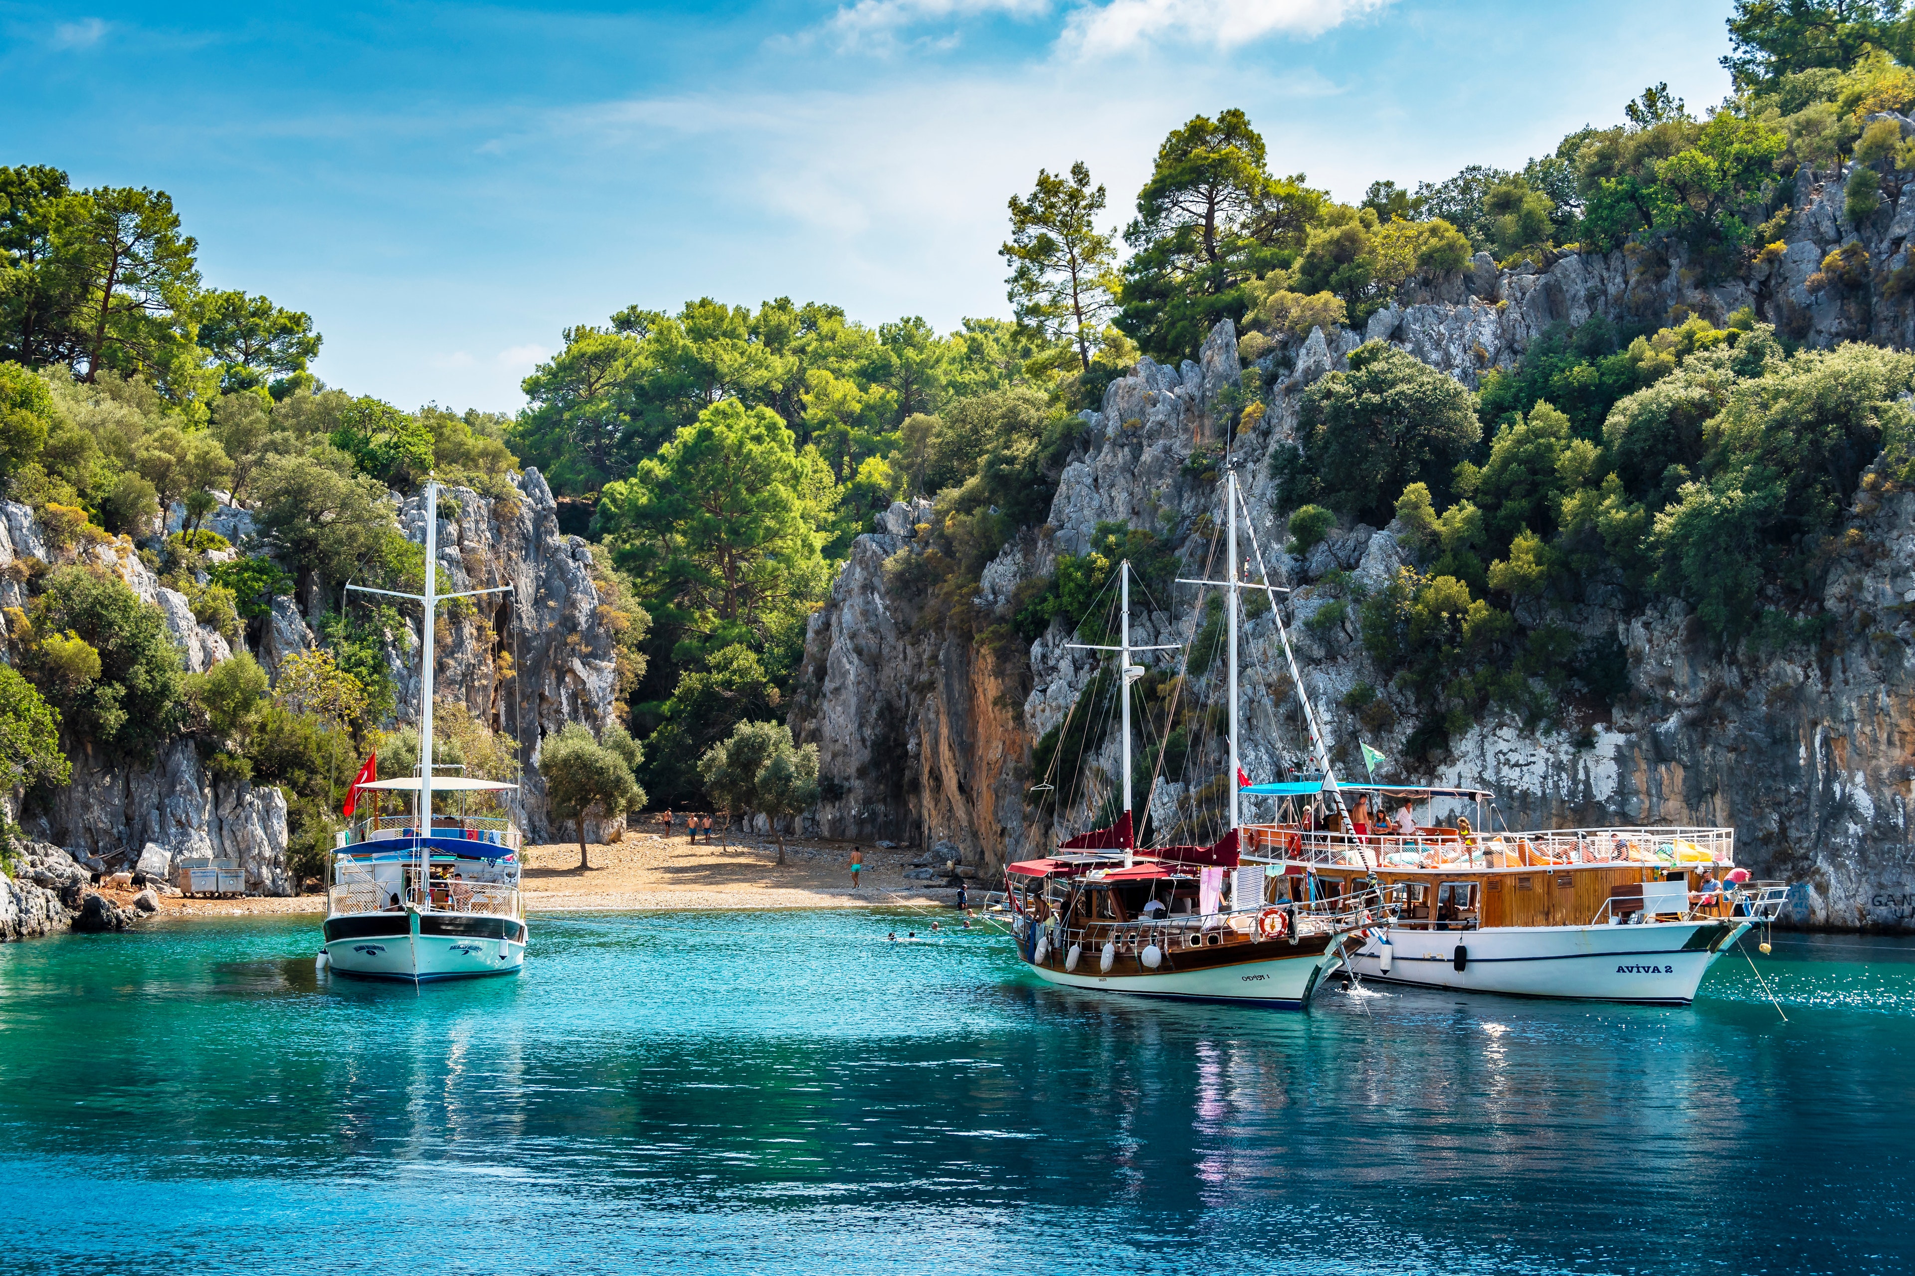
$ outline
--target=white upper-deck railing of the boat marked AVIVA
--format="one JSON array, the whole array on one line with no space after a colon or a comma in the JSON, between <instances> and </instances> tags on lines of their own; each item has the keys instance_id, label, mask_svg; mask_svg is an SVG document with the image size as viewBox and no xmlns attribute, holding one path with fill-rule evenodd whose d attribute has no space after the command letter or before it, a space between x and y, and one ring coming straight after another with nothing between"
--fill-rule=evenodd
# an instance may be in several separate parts
<instances>
[{"instance_id":1,"label":"white upper-deck railing of the boat marked AVIVA","mask_svg":"<svg viewBox=\"0 0 1915 1276\"><path fill-rule=\"evenodd\" d=\"M1524 832L1346 834L1295 825L1245 825L1245 855L1325 869L1547 869L1568 865L1727 867L1733 828L1632 826Z\"/></svg>"}]
</instances>

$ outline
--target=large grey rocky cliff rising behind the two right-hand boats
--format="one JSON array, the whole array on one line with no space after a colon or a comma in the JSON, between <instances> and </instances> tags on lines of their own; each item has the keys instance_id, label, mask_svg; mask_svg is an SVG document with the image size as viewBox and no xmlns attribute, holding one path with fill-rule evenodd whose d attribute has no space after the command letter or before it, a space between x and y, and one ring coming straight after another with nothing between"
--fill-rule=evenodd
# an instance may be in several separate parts
<instances>
[{"instance_id":1,"label":"large grey rocky cliff rising behind the two right-hand boats","mask_svg":"<svg viewBox=\"0 0 1915 1276\"><path fill-rule=\"evenodd\" d=\"M1915 136L1915 122L1902 128ZM1699 314L1724 323L1746 306L1815 346L1856 339L1915 346L1915 289L1905 287L1915 184L1852 224L1842 218L1844 176L1802 170L1783 247L1760 254L1739 279L1704 285L1666 247L1566 254L1515 272L1478 254L1459 277L1406 289L1362 333L1316 329L1258 362L1266 413L1237 442L1250 532L1272 574L1295 587L1283 616L1339 746L1354 748L1354 727L1337 708L1342 696L1358 681L1386 677L1363 654L1354 612L1304 622L1352 585L1383 587L1409 555L1394 526L1335 534L1308 559L1281 553L1287 530L1272 513L1268 459L1293 444L1302 392L1363 341L1398 344L1475 386L1486 369L1511 367L1553 323L1580 325L1597 314L1655 323ZM1842 249L1850 262L1858 251L1865 256L1848 275L1831 275L1825 258ZM1019 582L1049 574L1057 553L1080 553L1107 520L1172 526L1183 566L1201 566L1203 517L1216 518L1222 507L1214 467L1189 461L1210 442L1216 396L1245 371L1224 323L1199 362L1172 369L1143 360L1115 381L1101 411L1084 413L1046 526L1005 545L982 574L977 603L1007 620ZM1061 622L1015 650L921 631L910 591L887 585L883 564L913 553L925 513L892 507L883 530L856 543L812 620L791 719L822 750L822 832L944 844L938 857L988 872L1051 844L1057 830L1028 802L1032 744L1063 719L1097 666L1092 652L1067 647ZM1492 717L1452 742L1440 771L1390 779L1490 786L1513 825L1733 825L1745 865L1798 884L1796 924L1915 928L1915 738L1904 725L1915 696L1915 495L1863 492L1850 513L1856 534L1827 578L1821 608L1831 624L1817 649L1725 656L1679 603L1624 612L1589 591L1568 622L1584 637L1614 635L1622 645L1632 691L1620 708L1580 710L1540 733ZM1134 641L1185 641L1187 608L1189 599L1182 610L1139 608ZM1250 622L1247 650L1268 650L1272 626L1268 616ZM1266 658L1245 670L1243 752L1252 775L1273 775L1302 754L1279 664ZM1390 752L1406 731L1400 721L1365 735ZM1107 738L1093 765L1115 773L1115 746ZM1168 817L1185 798L1160 784L1162 809L1153 811Z\"/></svg>"}]
</instances>

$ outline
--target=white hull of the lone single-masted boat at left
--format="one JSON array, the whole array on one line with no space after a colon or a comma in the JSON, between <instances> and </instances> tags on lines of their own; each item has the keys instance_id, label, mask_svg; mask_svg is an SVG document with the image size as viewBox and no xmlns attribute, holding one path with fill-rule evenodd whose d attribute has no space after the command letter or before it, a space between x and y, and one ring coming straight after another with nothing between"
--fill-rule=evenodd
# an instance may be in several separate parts
<instances>
[{"instance_id":1,"label":"white hull of the lone single-masted boat at left","mask_svg":"<svg viewBox=\"0 0 1915 1276\"><path fill-rule=\"evenodd\" d=\"M525 968L525 922L494 916L373 913L326 920L326 960L362 979L475 979Z\"/></svg>"}]
</instances>

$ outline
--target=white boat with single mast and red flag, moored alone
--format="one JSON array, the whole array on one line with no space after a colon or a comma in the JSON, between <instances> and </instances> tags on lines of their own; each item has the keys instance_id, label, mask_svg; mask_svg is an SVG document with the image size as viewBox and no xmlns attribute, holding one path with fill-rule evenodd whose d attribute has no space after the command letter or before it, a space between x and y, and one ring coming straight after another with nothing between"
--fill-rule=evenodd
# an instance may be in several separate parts
<instances>
[{"instance_id":1,"label":"white boat with single mast and red flag, moored alone","mask_svg":"<svg viewBox=\"0 0 1915 1276\"><path fill-rule=\"evenodd\" d=\"M439 605L498 589L439 593L439 484L425 486L425 593L347 585L412 599L425 608L419 643L419 775L358 784L370 809L333 846L326 945L320 966L379 979L458 979L519 974L527 926L519 897L523 834L509 815L467 813L475 794L517 784L435 775L433 622ZM410 811L379 813L379 794L410 798ZM433 798L442 802L435 809Z\"/></svg>"}]
</instances>

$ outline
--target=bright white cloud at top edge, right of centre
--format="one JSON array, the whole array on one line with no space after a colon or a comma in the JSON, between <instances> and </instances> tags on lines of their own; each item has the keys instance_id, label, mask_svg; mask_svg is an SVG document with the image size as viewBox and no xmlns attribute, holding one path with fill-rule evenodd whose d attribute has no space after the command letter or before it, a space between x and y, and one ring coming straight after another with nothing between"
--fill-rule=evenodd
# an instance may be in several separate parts
<instances>
[{"instance_id":1,"label":"bright white cloud at top edge, right of centre","mask_svg":"<svg viewBox=\"0 0 1915 1276\"><path fill-rule=\"evenodd\" d=\"M1231 44L1268 34L1318 36L1390 0L1111 0L1070 13L1059 48L1082 57L1124 54L1153 40Z\"/></svg>"}]
</instances>

